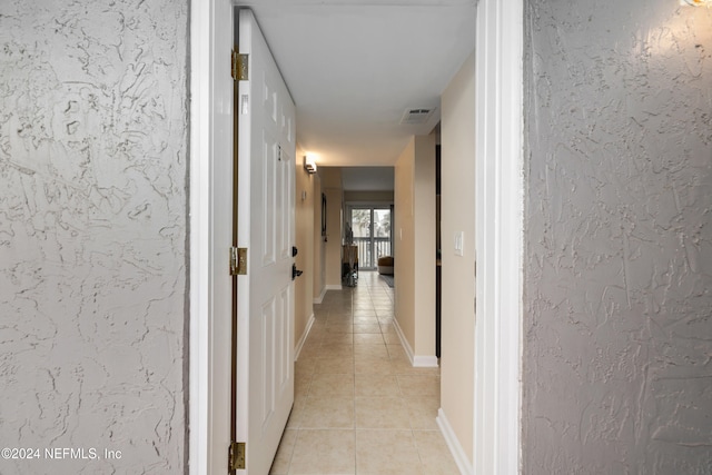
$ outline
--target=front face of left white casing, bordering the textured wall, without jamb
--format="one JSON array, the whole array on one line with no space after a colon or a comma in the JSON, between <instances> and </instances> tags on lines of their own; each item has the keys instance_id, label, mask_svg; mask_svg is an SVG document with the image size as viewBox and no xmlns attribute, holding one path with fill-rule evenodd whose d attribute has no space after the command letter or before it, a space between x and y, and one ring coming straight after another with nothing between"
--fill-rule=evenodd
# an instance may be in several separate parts
<instances>
[{"instance_id":1,"label":"front face of left white casing, bordering the textured wall, without jamb","mask_svg":"<svg viewBox=\"0 0 712 475\"><path fill-rule=\"evenodd\" d=\"M209 471L210 20L212 2L190 2L190 321L188 471Z\"/></svg>"}]
</instances>

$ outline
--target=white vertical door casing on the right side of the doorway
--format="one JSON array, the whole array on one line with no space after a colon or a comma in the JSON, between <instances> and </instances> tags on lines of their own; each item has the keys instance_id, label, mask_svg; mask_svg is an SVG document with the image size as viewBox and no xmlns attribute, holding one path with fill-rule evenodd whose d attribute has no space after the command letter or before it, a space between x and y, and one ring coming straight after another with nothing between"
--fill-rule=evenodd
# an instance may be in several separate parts
<instances>
[{"instance_id":1,"label":"white vertical door casing on the right side of the doorway","mask_svg":"<svg viewBox=\"0 0 712 475\"><path fill-rule=\"evenodd\" d=\"M523 0L481 0L476 28L474 473L520 472Z\"/></svg>"}]
</instances>

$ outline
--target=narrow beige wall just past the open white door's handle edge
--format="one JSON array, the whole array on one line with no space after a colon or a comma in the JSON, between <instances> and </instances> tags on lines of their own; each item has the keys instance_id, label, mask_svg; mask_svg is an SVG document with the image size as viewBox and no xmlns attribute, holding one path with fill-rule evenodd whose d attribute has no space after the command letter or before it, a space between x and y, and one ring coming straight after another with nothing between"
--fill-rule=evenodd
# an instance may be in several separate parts
<instances>
[{"instance_id":1,"label":"narrow beige wall just past the open white door's handle edge","mask_svg":"<svg viewBox=\"0 0 712 475\"><path fill-rule=\"evenodd\" d=\"M297 148L296 161L296 207L295 207L295 246L299 253L295 257L297 269L304 271L300 277L295 280L295 321L294 337L295 345L305 335L309 318L314 314L314 202L320 202L320 196L315 194L316 177L309 175L305 169L300 157L304 151Z\"/></svg>"}]
</instances>

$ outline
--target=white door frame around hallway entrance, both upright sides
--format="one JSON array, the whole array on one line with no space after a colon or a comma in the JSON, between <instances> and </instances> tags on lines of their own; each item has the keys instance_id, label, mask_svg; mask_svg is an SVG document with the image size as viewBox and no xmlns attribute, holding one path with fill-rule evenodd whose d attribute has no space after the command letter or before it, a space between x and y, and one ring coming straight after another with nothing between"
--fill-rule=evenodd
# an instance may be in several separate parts
<instances>
[{"instance_id":1,"label":"white door frame around hallway entrance, both upright sides","mask_svg":"<svg viewBox=\"0 0 712 475\"><path fill-rule=\"evenodd\" d=\"M190 0L189 321L184 340L188 344L184 390L191 475L221 475L227 471L229 424L225 414L229 414L230 342L229 329L214 318L219 303L212 300L212 288L215 277L221 275L214 265L215 257L225 255L227 267L228 254L227 249L216 249L212 239L216 224L224 218L214 212L215 201L222 198L214 191L216 160L231 160L231 133L224 131L231 130L233 85L228 70L233 4L230 0ZM488 171L496 181L481 196L485 194L479 186L485 174L477 176L479 317L475 339L494 339L492 344L477 345L475 352L473 448L475 473L514 474L521 461L523 0L479 0L477 17L477 97L491 91L494 99L486 101L485 111L477 116L478 140L486 141L478 146L475 160L478 170L496 165L496 170ZM508 80L497 83L498 78ZM492 129L486 126L488 118L493 118ZM505 139L512 138L510 132L514 133L514 142ZM491 205L485 208L481 198ZM496 264L502 265L500 270ZM487 277L494 279L485 286ZM508 281L518 283L516 299L503 287ZM488 384L495 390L484 397L483 388ZM486 410L493 417L478 417ZM514 461L513 453L517 454Z\"/></svg>"}]
</instances>

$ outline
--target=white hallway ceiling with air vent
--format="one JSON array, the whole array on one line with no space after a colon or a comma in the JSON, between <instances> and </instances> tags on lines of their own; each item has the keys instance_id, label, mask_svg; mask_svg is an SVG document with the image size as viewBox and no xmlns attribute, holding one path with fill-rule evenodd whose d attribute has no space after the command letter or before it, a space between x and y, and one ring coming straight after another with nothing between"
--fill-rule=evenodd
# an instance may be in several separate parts
<instances>
[{"instance_id":1,"label":"white hallway ceiling with air vent","mask_svg":"<svg viewBox=\"0 0 712 475\"><path fill-rule=\"evenodd\" d=\"M439 121L439 97L475 44L476 0L253 0L318 166L392 166ZM409 108L436 108L400 125Z\"/></svg>"}]
</instances>

